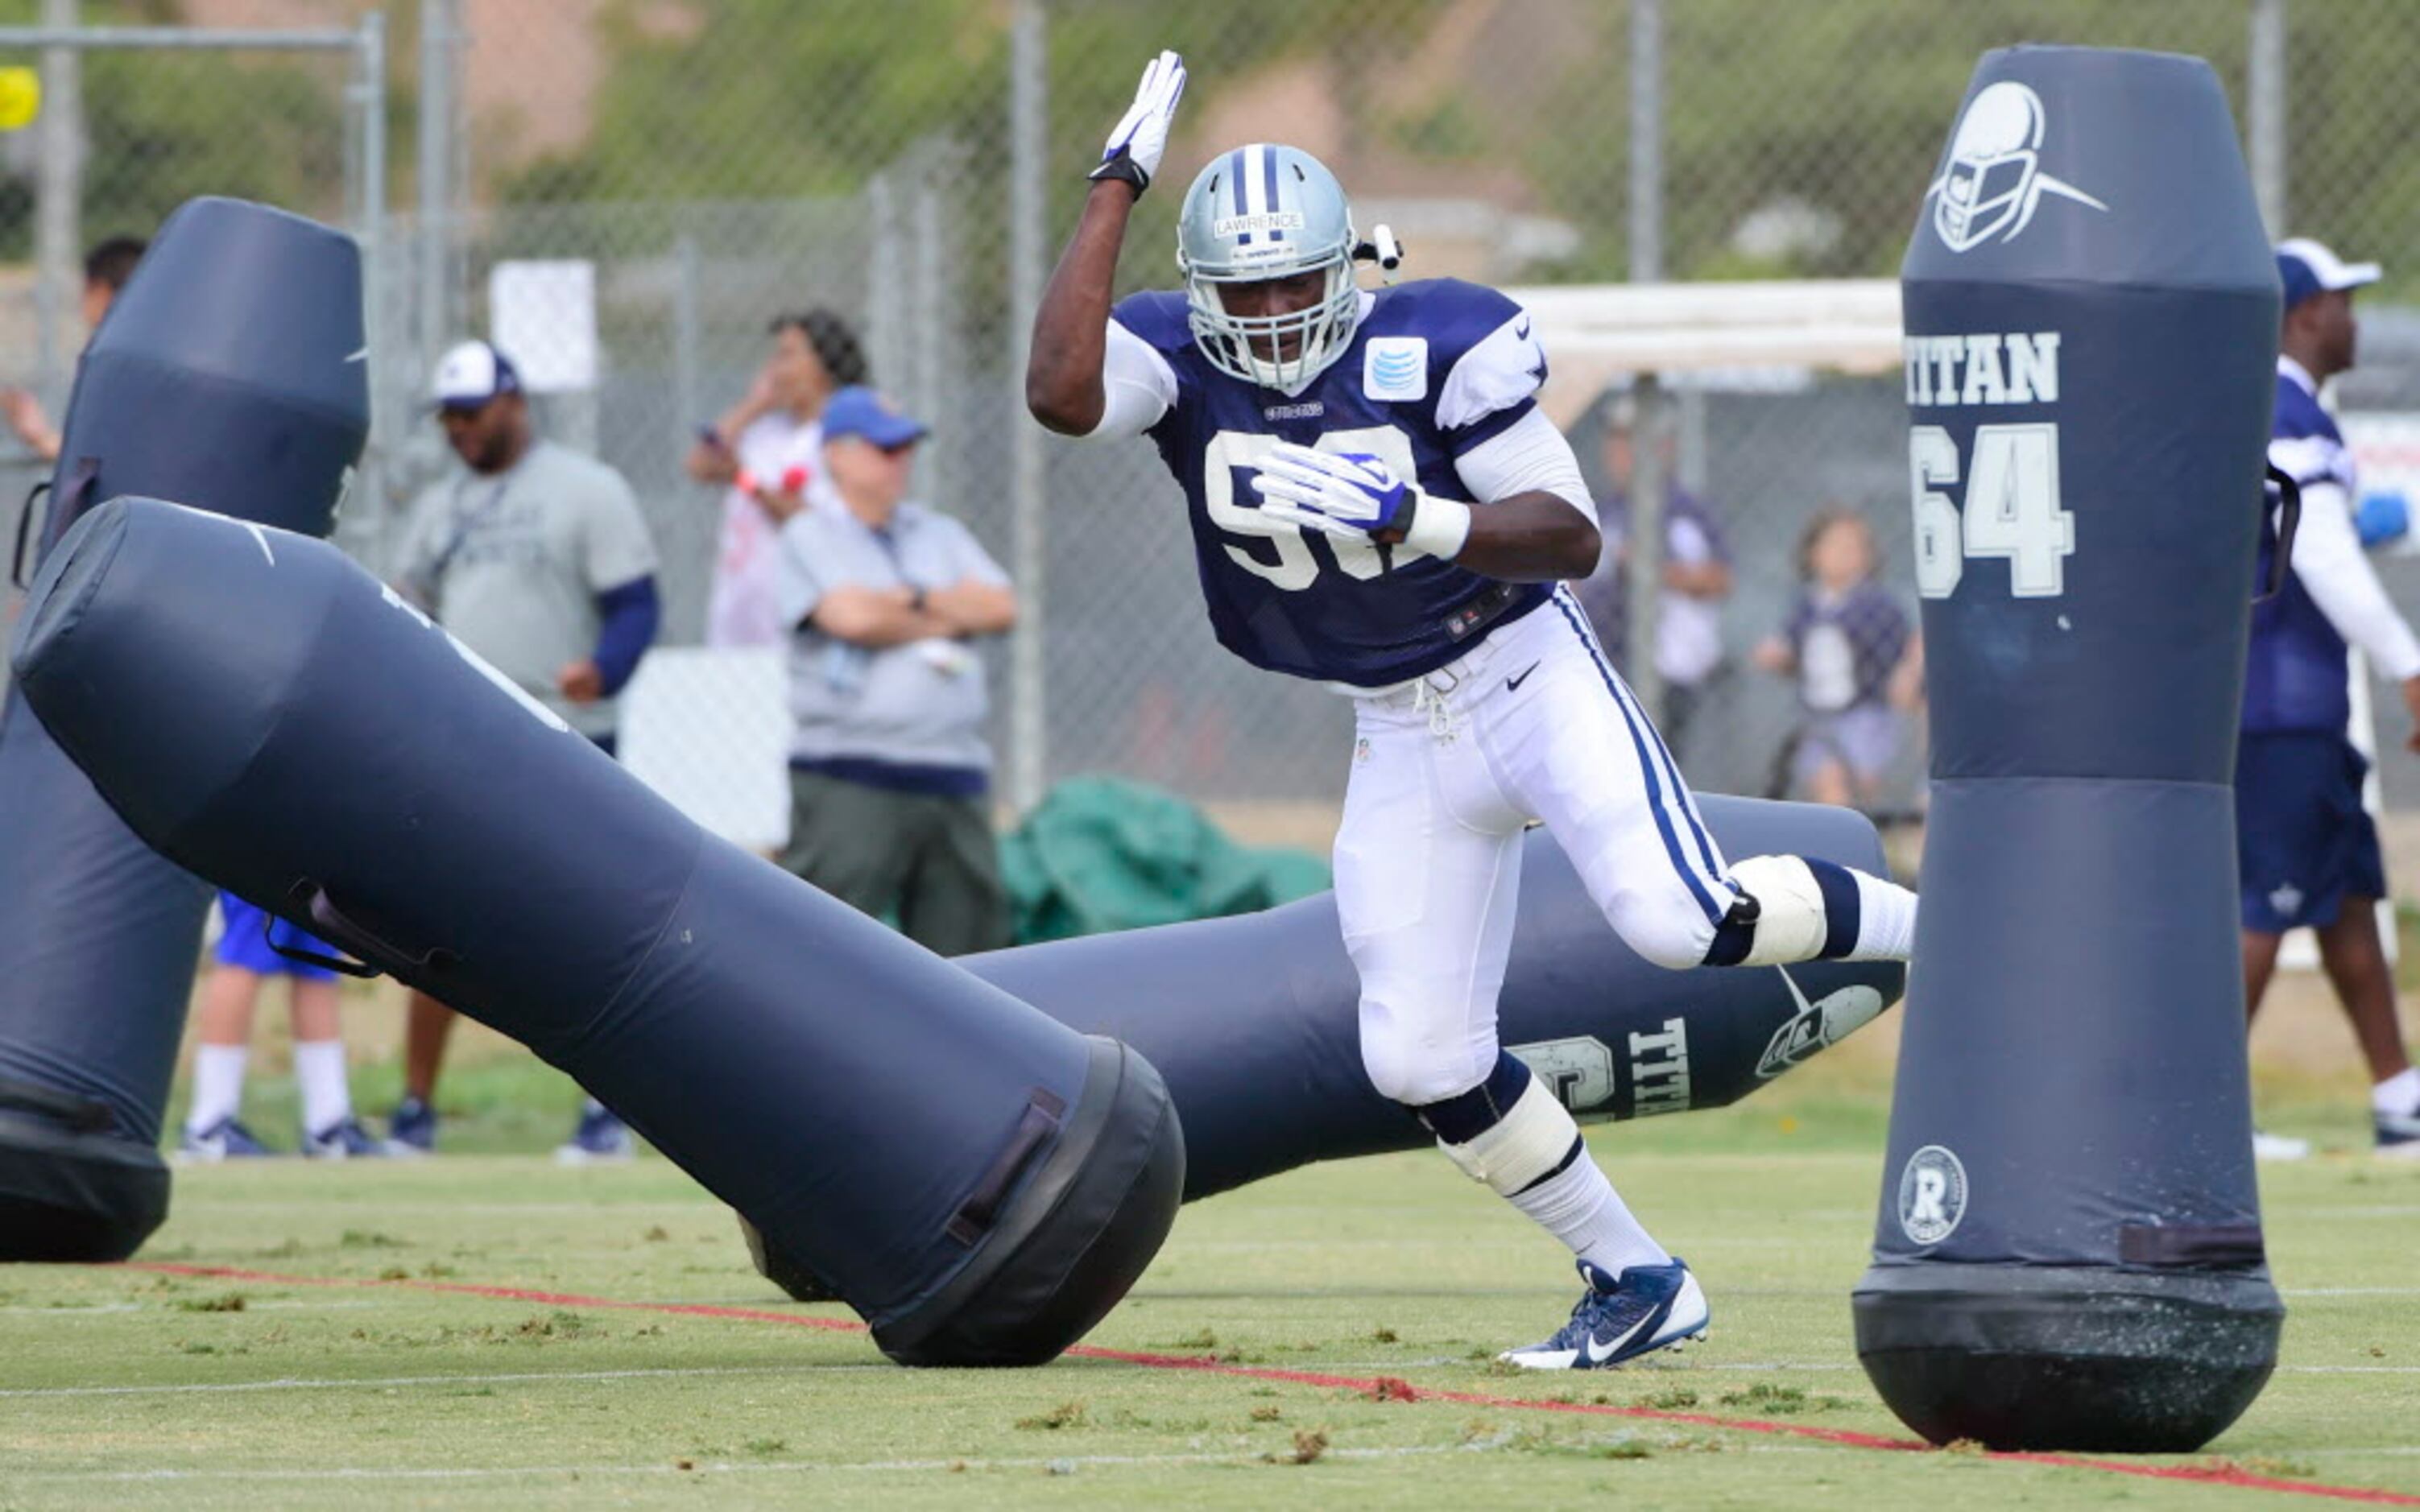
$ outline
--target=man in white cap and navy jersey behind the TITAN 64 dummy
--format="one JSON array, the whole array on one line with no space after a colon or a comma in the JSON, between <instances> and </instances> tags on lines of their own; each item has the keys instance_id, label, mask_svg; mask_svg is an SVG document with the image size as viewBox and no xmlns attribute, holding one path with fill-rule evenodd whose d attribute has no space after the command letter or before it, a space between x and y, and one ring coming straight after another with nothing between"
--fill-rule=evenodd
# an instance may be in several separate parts
<instances>
[{"instance_id":1,"label":"man in white cap and navy jersey behind the TITAN 64 dummy","mask_svg":"<svg viewBox=\"0 0 2420 1512\"><path fill-rule=\"evenodd\" d=\"M2362 556L2355 530L2360 491L2352 452L2318 389L2352 368L2352 290L2376 283L2379 264L2347 264L2309 240L2277 247L2284 324L2277 341L2277 409L2270 464L2301 486L2301 527L2284 588L2253 607L2243 735L2236 750L2236 854L2243 885L2243 1002L2277 968L2287 929L2318 934L2318 958L2335 985L2369 1062L2379 1154L2420 1156L2420 1072L2403 1052L2396 989L2379 941L2386 895L2379 832L2362 808L2369 762L2347 726L2347 646L2403 689L2420 750L2420 639L2396 612ZM2260 578L2277 552L2275 520L2260 525ZM2265 1159L2309 1154L2301 1139L2258 1135Z\"/></svg>"}]
</instances>

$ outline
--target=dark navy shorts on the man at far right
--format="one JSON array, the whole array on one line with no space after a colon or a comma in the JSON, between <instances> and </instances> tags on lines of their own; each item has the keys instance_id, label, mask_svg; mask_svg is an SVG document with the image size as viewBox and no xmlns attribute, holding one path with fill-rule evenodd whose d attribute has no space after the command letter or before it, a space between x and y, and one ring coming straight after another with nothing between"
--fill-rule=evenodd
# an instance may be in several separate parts
<instances>
[{"instance_id":1,"label":"dark navy shorts on the man at far right","mask_svg":"<svg viewBox=\"0 0 2420 1512\"><path fill-rule=\"evenodd\" d=\"M2243 927L2335 924L2345 898L2384 898L2379 827L2362 808L2369 762L2333 731L2246 733L2236 745Z\"/></svg>"}]
</instances>

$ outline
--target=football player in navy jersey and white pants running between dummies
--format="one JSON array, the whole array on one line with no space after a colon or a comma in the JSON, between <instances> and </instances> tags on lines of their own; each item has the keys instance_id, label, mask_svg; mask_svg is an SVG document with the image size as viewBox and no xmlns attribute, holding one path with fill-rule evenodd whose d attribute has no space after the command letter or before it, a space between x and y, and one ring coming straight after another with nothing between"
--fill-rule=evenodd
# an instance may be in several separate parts
<instances>
[{"instance_id":1,"label":"football player in navy jersey and white pants running between dummies","mask_svg":"<svg viewBox=\"0 0 2420 1512\"><path fill-rule=\"evenodd\" d=\"M1445 1154L1554 1231L1588 1282L1515 1364L1590 1369L1706 1328L1554 1091L1496 1043L1520 842L1544 820L1660 965L1905 958L1914 895L1827 861L1725 864L1563 578L1595 506L1537 409L1520 305L1450 278L1355 285L1365 249L1309 152L1222 152L1186 191L1183 293L1111 310L1135 198L1183 94L1159 53L1111 133L1033 322L1026 404L1065 435L1150 435L1186 494L1203 595L1244 660L1353 697L1336 907L1362 1064ZM1384 249L1384 252L1379 252Z\"/></svg>"}]
</instances>

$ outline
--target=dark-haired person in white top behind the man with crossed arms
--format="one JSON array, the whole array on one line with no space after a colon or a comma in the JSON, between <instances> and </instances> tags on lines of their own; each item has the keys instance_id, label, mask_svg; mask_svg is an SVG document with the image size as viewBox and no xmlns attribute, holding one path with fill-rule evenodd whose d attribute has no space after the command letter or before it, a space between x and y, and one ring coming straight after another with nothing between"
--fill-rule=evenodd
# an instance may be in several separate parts
<instances>
[{"instance_id":1,"label":"dark-haired person in white top behind the man with crossed arms","mask_svg":"<svg viewBox=\"0 0 2420 1512\"><path fill-rule=\"evenodd\" d=\"M748 394L724 419L699 426L687 469L724 484L724 525L707 595L707 646L782 646L774 532L830 494L823 477L825 402L869 382L866 356L849 322L830 310L779 314L772 351Z\"/></svg>"}]
</instances>

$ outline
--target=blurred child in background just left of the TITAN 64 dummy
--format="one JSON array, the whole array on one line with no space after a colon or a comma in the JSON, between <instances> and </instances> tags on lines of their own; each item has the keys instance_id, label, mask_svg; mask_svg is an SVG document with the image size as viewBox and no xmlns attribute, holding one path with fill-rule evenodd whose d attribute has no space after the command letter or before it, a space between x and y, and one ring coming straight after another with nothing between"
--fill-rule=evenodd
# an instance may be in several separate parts
<instances>
[{"instance_id":1,"label":"blurred child in background just left of the TITAN 64 dummy","mask_svg":"<svg viewBox=\"0 0 2420 1512\"><path fill-rule=\"evenodd\" d=\"M1798 600L1781 634L1757 646L1767 673L1798 677L1791 781L1815 803L1873 808L1900 755L1892 673L1909 622L1876 581L1880 549L1866 515L1827 508L1798 537Z\"/></svg>"}]
</instances>

